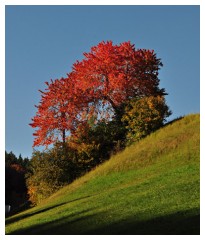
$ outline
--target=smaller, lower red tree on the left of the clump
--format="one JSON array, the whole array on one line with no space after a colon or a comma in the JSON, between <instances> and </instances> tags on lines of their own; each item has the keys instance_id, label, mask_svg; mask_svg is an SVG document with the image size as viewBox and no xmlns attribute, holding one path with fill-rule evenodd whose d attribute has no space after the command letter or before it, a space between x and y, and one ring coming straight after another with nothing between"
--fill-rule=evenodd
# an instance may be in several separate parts
<instances>
[{"instance_id":1,"label":"smaller, lower red tree on the left of the clump","mask_svg":"<svg viewBox=\"0 0 205 240\"><path fill-rule=\"evenodd\" d=\"M30 124L33 128L38 128L33 134L36 137L33 146L49 145L59 138L65 142L65 132L73 125L75 95L72 92L72 82L62 78L46 82L46 85L48 88L44 92L39 90L41 101L36 106L38 111Z\"/></svg>"}]
</instances>

